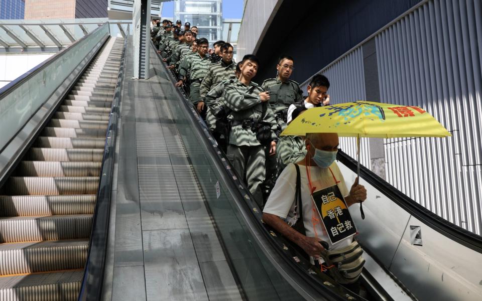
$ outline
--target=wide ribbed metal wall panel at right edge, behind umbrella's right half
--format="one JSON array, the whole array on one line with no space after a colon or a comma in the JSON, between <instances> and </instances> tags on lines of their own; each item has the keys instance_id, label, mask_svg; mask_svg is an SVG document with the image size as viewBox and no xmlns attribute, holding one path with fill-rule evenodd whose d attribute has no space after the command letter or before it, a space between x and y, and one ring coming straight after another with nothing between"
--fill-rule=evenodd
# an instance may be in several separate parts
<instances>
[{"instance_id":1,"label":"wide ribbed metal wall panel at right edge, behind umbrella's right half","mask_svg":"<svg viewBox=\"0 0 482 301\"><path fill-rule=\"evenodd\" d=\"M423 107L453 137L387 139L388 182L482 233L482 5L433 0L376 37L382 102Z\"/></svg>"}]
</instances>

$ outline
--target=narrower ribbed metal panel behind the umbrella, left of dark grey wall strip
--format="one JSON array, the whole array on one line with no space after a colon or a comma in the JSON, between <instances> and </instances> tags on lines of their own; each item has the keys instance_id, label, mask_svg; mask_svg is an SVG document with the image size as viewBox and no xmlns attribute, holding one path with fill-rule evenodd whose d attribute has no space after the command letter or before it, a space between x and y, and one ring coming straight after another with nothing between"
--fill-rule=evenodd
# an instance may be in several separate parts
<instances>
[{"instance_id":1,"label":"narrower ribbed metal panel behind the umbrella, left of dark grey wall strip","mask_svg":"<svg viewBox=\"0 0 482 301\"><path fill-rule=\"evenodd\" d=\"M325 75L330 81L328 94L331 104L366 99L362 47L328 65L319 73ZM305 82L301 86L304 93L307 93L305 91L308 84L309 82ZM356 158L356 138L340 137L340 147L343 152L352 158ZM360 149L362 150L360 162L370 168L369 139L362 139Z\"/></svg>"}]
</instances>

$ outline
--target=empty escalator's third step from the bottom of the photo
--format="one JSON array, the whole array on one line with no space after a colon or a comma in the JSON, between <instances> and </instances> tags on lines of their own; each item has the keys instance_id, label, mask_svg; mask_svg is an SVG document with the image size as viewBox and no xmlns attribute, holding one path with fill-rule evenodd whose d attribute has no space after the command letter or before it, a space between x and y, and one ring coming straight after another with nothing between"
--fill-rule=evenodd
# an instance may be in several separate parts
<instances>
[{"instance_id":1,"label":"empty escalator's third step from the bottom of the photo","mask_svg":"<svg viewBox=\"0 0 482 301\"><path fill-rule=\"evenodd\" d=\"M91 214L3 217L0 242L88 238L91 227Z\"/></svg>"}]
</instances>

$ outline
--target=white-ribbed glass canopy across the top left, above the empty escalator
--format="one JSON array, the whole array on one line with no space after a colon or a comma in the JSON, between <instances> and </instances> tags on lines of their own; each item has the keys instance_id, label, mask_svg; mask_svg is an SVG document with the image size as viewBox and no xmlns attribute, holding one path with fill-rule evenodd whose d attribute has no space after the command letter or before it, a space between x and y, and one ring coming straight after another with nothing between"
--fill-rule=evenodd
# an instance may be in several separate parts
<instances>
[{"instance_id":1,"label":"white-ribbed glass canopy across the top left, above the empty escalator","mask_svg":"<svg viewBox=\"0 0 482 301\"><path fill-rule=\"evenodd\" d=\"M0 20L0 52L59 51L107 21L123 36L130 23L107 18Z\"/></svg>"}]
</instances>

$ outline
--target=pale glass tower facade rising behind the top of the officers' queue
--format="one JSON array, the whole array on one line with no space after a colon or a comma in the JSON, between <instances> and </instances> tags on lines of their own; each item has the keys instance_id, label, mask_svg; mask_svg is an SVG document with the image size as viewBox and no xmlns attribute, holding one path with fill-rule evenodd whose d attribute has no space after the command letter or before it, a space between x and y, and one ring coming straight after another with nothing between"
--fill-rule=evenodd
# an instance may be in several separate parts
<instances>
[{"instance_id":1,"label":"pale glass tower facade rising behind the top of the officers' queue","mask_svg":"<svg viewBox=\"0 0 482 301\"><path fill-rule=\"evenodd\" d=\"M222 38L221 0L180 0L174 2L174 22L181 20L199 29L198 37L212 44Z\"/></svg>"}]
</instances>

